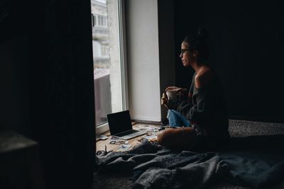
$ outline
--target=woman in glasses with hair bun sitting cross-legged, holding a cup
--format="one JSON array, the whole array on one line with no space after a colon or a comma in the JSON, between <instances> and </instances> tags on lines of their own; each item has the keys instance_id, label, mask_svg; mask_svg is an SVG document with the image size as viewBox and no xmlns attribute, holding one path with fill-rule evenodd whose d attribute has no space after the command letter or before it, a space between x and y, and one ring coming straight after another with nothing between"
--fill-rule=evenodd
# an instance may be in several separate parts
<instances>
[{"instance_id":1,"label":"woman in glasses with hair bun sitting cross-legged, holding a cup","mask_svg":"<svg viewBox=\"0 0 284 189\"><path fill-rule=\"evenodd\" d=\"M192 67L190 90L170 86L165 91L175 91L188 96L187 101L177 105L161 99L169 108L170 126L182 126L163 130L158 134L158 142L175 149L206 150L221 147L229 141L226 103L222 86L212 68L207 64L209 57L207 31L200 28L197 34L187 36L182 41L180 58L184 67ZM184 127L185 126L185 127Z\"/></svg>"}]
</instances>

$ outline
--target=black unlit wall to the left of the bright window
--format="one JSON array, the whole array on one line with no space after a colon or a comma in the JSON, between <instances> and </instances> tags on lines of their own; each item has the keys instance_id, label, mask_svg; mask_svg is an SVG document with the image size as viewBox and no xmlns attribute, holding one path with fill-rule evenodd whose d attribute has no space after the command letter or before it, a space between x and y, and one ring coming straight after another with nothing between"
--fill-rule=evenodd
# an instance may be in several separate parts
<instances>
[{"instance_id":1,"label":"black unlit wall to the left of the bright window","mask_svg":"<svg viewBox=\"0 0 284 189\"><path fill-rule=\"evenodd\" d=\"M39 143L48 188L90 188L95 152L90 1L4 1L0 11L1 130Z\"/></svg>"}]
</instances>

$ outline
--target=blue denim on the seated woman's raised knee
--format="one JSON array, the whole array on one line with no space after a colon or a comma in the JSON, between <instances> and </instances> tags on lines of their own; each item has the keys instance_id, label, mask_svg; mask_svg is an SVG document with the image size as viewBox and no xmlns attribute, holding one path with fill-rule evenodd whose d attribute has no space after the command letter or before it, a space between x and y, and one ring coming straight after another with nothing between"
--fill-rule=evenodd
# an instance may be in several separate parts
<instances>
[{"instance_id":1,"label":"blue denim on the seated woman's raised knee","mask_svg":"<svg viewBox=\"0 0 284 189\"><path fill-rule=\"evenodd\" d=\"M169 125L172 127L190 127L190 121L187 120L183 115L181 115L176 110L168 110L167 118L169 120Z\"/></svg>"}]
</instances>

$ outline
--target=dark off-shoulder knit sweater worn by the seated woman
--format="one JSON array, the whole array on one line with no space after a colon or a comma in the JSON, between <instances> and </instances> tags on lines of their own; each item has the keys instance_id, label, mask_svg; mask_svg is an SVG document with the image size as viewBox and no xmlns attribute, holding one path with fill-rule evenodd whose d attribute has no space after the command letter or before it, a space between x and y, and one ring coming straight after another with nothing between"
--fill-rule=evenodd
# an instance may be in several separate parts
<instances>
[{"instance_id":1,"label":"dark off-shoulder knit sweater worn by the seated woman","mask_svg":"<svg viewBox=\"0 0 284 189\"><path fill-rule=\"evenodd\" d=\"M209 84L202 88L195 87L195 75L189 93L191 98L178 105L178 112L194 122L202 130L206 130L210 140L224 143L229 140L228 118L226 114L226 101L222 85L214 74Z\"/></svg>"}]
</instances>

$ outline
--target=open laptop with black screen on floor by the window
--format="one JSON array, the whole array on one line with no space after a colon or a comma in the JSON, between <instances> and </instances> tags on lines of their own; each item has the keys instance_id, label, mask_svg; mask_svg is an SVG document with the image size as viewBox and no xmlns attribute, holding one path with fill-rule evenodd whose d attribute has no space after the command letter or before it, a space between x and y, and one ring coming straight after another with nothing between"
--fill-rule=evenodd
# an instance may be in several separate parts
<instances>
[{"instance_id":1,"label":"open laptop with black screen on floor by the window","mask_svg":"<svg viewBox=\"0 0 284 189\"><path fill-rule=\"evenodd\" d=\"M132 139L147 133L145 131L133 130L129 110L109 113L107 121L109 122L111 135L120 139Z\"/></svg>"}]
</instances>

